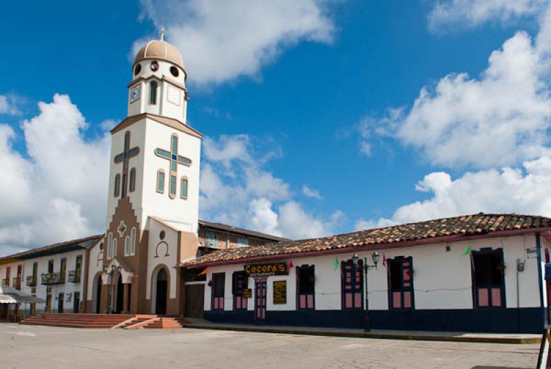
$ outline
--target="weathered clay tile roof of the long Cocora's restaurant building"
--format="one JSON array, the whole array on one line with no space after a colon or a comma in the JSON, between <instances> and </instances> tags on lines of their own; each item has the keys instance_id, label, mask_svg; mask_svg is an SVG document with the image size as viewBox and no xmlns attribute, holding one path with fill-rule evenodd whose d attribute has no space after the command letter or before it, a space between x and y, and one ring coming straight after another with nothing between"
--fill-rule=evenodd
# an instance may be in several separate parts
<instances>
[{"instance_id":1,"label":"weathered clay tile roof of the long Cocora's restaurant building","mask_svg":"<svg viewBox=\"0 0 551 369\"><path fill-rule=\"evenodd\" d=\"M379 229L368 229L342 235L331 235L325 238L279 242L262 246L249 246L238 249L215 251L182 264L186 267L207 266L207 264L225 264L252 257L286 257L287 254L315 253L357 246L375 246L396 242L430 243L434 238L446 236L486 235L498 231L529 229L551 231L551 218L518 214L484 214L463 215L455 218L428 220L427 222L401 224ZM430 240L433 239L433 240ZM410 245L408 245L410 246Z\"/></svg>"}]
</instances>

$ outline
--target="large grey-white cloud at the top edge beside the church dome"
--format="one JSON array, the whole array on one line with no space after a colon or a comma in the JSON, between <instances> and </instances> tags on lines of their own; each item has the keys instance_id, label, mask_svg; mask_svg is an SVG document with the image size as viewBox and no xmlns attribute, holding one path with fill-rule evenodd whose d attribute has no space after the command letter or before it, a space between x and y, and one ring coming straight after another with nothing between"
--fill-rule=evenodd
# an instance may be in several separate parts
<instances>
[{"instance_id":1,"label":"large grey-white cloud at the top edge beside the church dome","mask_svg":"<svg viewBox=\"0 0 551 369\"><path fill-rule=\"evenodd\" d=\"M190 81L223 83L256 76L300 41L329 43L335 27L327 0L142 0L143 14L167 30ZM134 51L145 43L134 43ZM135 55L135 53L134 53Z\"/></svg>"}]
</instances>

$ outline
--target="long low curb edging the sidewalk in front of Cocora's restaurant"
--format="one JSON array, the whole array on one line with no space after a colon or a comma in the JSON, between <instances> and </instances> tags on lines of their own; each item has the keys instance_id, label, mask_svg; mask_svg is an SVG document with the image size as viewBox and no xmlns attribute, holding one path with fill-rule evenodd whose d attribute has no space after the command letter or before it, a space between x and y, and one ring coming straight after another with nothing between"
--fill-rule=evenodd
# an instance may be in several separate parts
<instances>
[{"instance_id":1,"label":"long low curb edging the sidewalk in front of Cocora's restaurant","mask_svg":"<svg viewBox=\"0 0 551 369\"><path fill-rule=\"evenodd\" d=\"M539 344L539 337L462 337L452 335L409 335L407 333L377 333L377 332L342 332L331 330L308 330L300 328L268 328L251 326L220 326L210 324L183 324L183 328L234 330L238 332L281 333L287 335L309 335L326 337L354 337L374 339L410 339L415 341L443 341L443 342L476 342L484 344Z\"/></svg>"}]
</instances>

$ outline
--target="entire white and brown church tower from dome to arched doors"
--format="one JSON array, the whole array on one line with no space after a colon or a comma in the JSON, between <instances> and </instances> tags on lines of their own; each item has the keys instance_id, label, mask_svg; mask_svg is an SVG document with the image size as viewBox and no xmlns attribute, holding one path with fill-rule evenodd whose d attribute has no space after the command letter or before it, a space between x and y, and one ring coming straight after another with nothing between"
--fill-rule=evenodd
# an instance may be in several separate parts
<instances>
[{"instance_id":1,"label":"entire white and brown church tower from dome to arched doors","mask_svg":"<svg viewBox=\"0 0 551 369\"><path fill-rule=\"evenodd\" d=\"M198 251L202 135L187 125L187 73L163 34L136 55L128 114L111 130L102 271L117 287L101 311L178 315L174 267Z\"/></svg>"}]
</instances>

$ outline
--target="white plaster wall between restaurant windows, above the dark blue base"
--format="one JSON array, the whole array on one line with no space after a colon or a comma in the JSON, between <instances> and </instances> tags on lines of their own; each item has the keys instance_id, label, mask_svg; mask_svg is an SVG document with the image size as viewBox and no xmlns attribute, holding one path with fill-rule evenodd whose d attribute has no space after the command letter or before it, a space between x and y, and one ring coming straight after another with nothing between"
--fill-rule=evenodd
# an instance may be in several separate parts
<instances>
[{"instance_id":1,"label":"white plaster wall between restaurant windows, above the dark blue base","mask_svg":"<svg viewBox=\"0 0 551 369\"><path fill-rule=\"evenodd\" d=\"M537 257L527 257L527 249L536 246L534 235L520 235L510 238L488 238L471 242L455 242L453 244L434 244L412 246L401 249L380 250L380 264L368 271L368 291L370 310L388 309L388 281L387 269L382 266L383 254L387 259L397 256L413 257L413 286L415 288L415 309L470 309L472 302L471 260L469 255L463 255L467 246L472 251L482 248L503 249L505 269L505 293L507 308L539 307L539 277L537 271ZM450 246L450 251L446 251ZM545 246L550 246L545 243ZM315 309L341 309L341 275L340 263L349 260L354 253L339 255L323 255L318 257L300 257L281 260L294 266L315 264ZM360 257L367 257L369 264L372 251L357 253ZM543 251L542 251L543 255ZM335 271L335 257L339 263ZM542 256L543 257L543 256ZM524 271L518 273L519 303L517 304L517 259L525 262ZM262 263L253 263L262 264ZM543 263L542 263L543 264ZM207 281L211 280L212 273L227 273L225 284L225 310L232 310L233 296L231 291L231 274L242 271L244 264L227 266L212 266L208 268ZM273 281L287 280L287 304L273 304ZM268 277L267 310L295 310L296 308L296 274L291 268L287 276ZM254 281L249 278L249 288L254 295ZM254 296L253 296L254 297ZM249 310L253 309L254 299L249 299ZM211 287L205 286L205 310L210 310Z\"/></svg>"}]
</instances>

